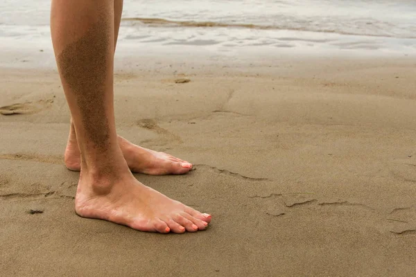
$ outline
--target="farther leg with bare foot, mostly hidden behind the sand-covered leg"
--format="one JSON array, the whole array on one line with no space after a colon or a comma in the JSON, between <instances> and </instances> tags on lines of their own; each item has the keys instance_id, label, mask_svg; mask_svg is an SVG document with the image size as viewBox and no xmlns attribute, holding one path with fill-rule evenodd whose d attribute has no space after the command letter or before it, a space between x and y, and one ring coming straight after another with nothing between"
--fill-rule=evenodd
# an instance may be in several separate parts
<instances>
[{"instance_id":1,"label":"farther leg with bare foot, mostly hidden behind the sand-covered leg","mask_svg":"<svg viewBox=\"0 0 416 277\"><path fill-rule=\"evenodd\" d=\"M123 11L123 0L114 0L114 51L116 49L117 37ZM118 136L119 145L123 156L132 172L150 175L184 174L192 169L191 163L178 159L164 152L156 152L130 143ZM69 170L79 171L81 167L81 156L76 139L75 127L71 118L67 148L64 154L65 165Z\"/></svg>"}]
</instances>

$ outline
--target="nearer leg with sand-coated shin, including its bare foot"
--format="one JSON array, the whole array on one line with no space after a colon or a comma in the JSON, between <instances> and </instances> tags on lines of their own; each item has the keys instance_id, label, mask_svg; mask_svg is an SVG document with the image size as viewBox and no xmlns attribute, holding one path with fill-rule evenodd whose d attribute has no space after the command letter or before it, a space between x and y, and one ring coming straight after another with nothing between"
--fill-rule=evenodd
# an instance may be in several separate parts
<instances>
[{"instance_id":1,"label":"nearer leg with sand-coated shin, including its bare foot","mask_svg":"<svg viewBox=\"0 0 416 277\"><path fill-rule=\"evenodd\" d=\"M141 184L119 147L114 123L114 1L53 0L51 34L80 148L76 213L140 231L183 233L211 216Z\"/></svg>"}]
</instances>

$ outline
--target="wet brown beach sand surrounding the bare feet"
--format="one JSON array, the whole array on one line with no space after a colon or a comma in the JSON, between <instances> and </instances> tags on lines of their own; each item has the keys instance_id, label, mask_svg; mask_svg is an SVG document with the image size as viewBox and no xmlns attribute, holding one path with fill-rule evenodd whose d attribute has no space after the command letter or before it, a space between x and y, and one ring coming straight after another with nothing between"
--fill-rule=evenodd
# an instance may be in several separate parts
<instances>
[{"instance_id":1,"label":"wet brown beach sand surrounding the bare feet","mask_svg":"<svg viewBox=\"0 0 416 277\"><path fill-rule=\"evenodd\" d=\"M78 217L58 74L0 69L0 275L414 276L415 66L161 57L119 67L119 134L195 164L135 175L213 215L184 235Z\"/></svg>"}]
</instances>

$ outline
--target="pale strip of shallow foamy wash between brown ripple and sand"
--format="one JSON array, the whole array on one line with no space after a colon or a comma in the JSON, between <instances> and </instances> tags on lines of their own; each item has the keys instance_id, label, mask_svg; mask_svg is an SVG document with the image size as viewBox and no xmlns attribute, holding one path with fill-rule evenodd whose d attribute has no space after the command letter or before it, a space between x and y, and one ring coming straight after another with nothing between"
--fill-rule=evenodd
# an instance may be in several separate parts
<instances>
[{"instance_id":1,"label":"pale strip of shallow foamy wash between brown ripple and sand","mask_svg":"<svg viewBox=\"0 0 416 277\"><path fill-rule=\"evenodd\" d=\"M146 27L148 28L148 27ZM203 28L202 28L203 29ZM238 35L238 30L234 30ZM24 37L2 37L0 46L1 68L16 69L55 69L55 60L51 39L45 36L36 39ZM146 34L146 30L144 34ZM205 39L194 37L171 37L172 33L162 33L157 37L143 35L144 40L130 39L135 37L129 27L122 26L116 49L116 66L125 68L129 63L143 60L157 60L157 62L179 62L182 60L198 60L199 64L220 62L221 64L237 63L250 64L252 62L290 61L298 59L317 60L336 58L344 59L388 59L416 57L413 41L416 39L401 38L372 38L361 35L321 34L314 32L300 32L281 30L276 42L264 42L267 37L253 40L242 38L241 41L216 41L215 35L208 35ZM171 38L169 38L171 37ZM270 62L272 64L272 62Z\"/></svg>"}]
</instances>

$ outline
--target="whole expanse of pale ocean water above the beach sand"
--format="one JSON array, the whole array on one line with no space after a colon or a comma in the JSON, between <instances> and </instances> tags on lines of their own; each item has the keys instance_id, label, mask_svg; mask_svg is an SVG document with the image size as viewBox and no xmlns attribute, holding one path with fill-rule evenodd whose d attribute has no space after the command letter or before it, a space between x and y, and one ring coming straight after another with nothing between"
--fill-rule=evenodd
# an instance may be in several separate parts
<instances>
[{"instance_id":1,"label":"whole expanse of pale ocean water above the beach sand","mask_svg":"<svg viewBox=\"0 0 416 277\"><path fill-rule=\"evenodd\" d=\"M50 2L1 1L4 45L47 48ZM415 0L125 0L121 25L143 50L416 55Z\"/></svg>"}]
</instances>

